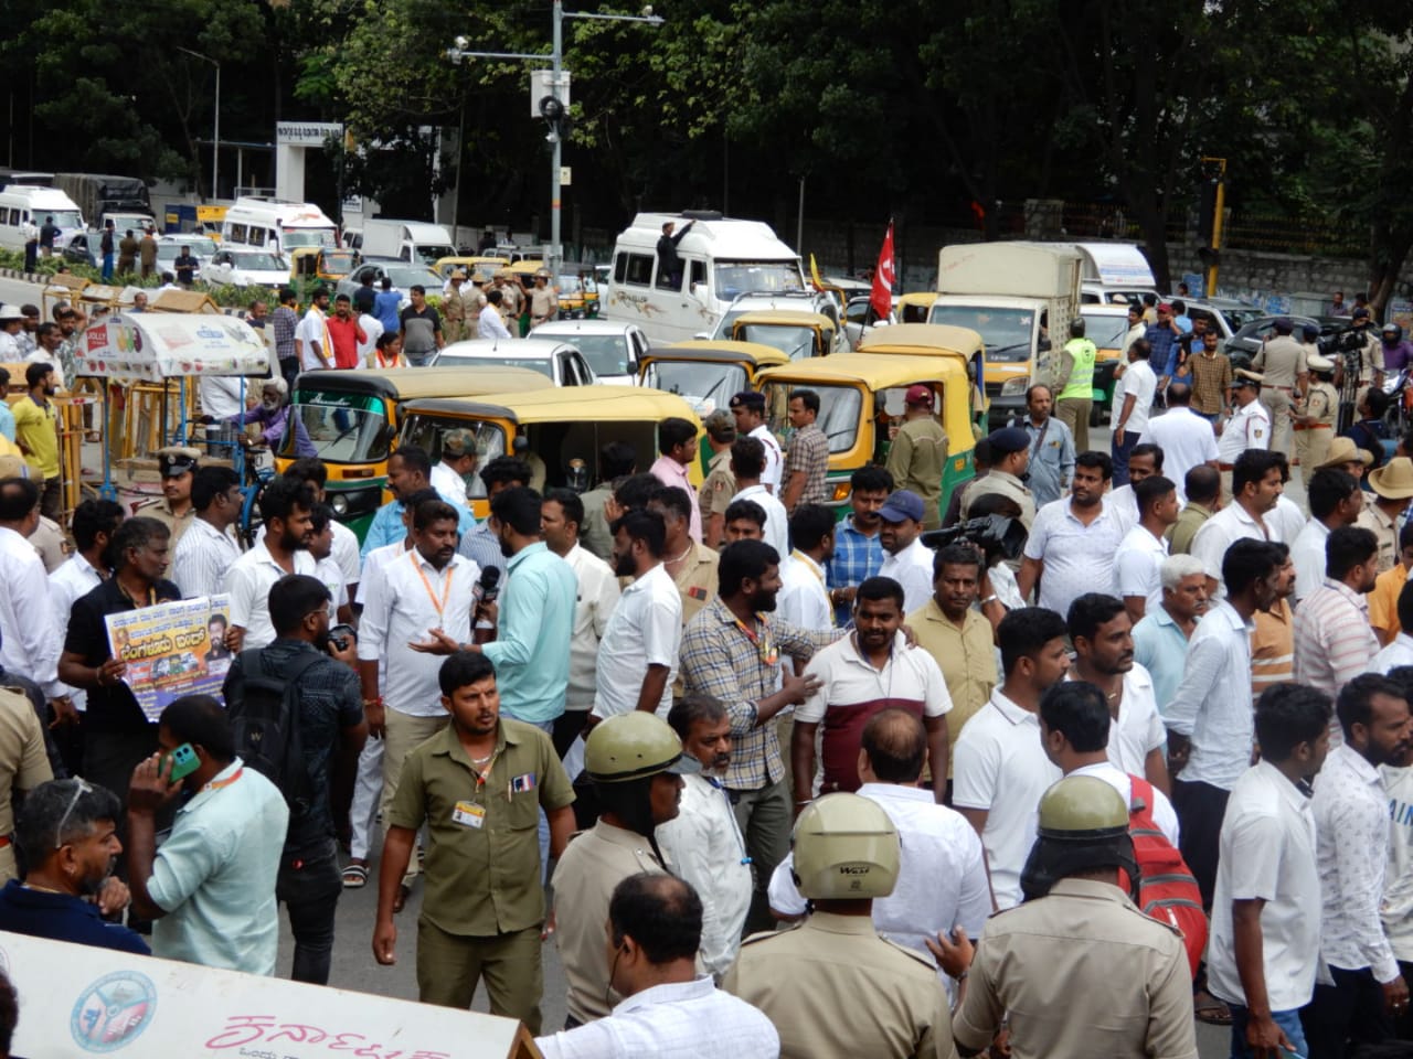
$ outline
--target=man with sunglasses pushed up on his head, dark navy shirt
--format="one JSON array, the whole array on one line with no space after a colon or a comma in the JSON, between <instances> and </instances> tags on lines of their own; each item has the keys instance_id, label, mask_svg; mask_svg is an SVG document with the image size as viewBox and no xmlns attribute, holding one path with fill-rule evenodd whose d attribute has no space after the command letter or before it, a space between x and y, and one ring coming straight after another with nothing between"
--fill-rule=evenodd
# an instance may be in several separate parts
<instances>
[{"instance_id":1,"label":"man with sunglasses pushed up on his head, dark navy shirt","mask_svg":"<svg viewBox=\"0 0 1413 1059\"><path fill-rule=\"evenodd\" d=\"M103 921L127 907L127 887L113 878L122 812L117 795L83 779L34 788L16 826L30 870L0 891L0 931L151 955L136 931Z\"/></svg>"}]
</instances>

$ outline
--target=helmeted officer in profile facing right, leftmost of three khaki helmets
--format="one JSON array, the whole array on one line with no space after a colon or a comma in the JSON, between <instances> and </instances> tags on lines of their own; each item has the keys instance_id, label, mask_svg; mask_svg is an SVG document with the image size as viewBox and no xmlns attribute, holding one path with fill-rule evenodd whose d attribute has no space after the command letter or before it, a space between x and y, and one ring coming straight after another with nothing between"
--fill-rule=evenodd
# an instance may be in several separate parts
<instances>
[{"instance_id":1,"label":"helmeted officer in profile facing right, leftmost of three khaki helmets","mask_svg":"<svg viewBox=\"0 0 1413 1059\"><path fill-rule=\"evenodd\" d=\"M613 887L640 871L666 870L653 832L677 816L681 777L699 772L701 764L682 754L666 720L637 710L595 726L584 771L599 822L569 842L554 870L555 936L569 986L565 1029L602 1018L617 1003L603 960Z\"/></svg>"}]
</instances>

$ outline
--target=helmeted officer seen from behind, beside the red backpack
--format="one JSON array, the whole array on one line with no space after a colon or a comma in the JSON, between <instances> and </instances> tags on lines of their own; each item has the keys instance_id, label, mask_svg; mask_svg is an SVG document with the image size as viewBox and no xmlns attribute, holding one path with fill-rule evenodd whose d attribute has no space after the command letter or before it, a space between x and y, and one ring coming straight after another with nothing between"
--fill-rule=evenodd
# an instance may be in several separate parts
<instances>
[{"instance_id":1,"label":"helmeted officer seen from behind, beside the red backpack","mask_svg":"<svg viewBox=\"0 0 1413 1059\"><path fill-rule=\"evenodd\" d=\"M1137 864L1123 798L1104 779L1065 777L1040 799L1039 836L1026 902L988 919L975 950L961 931L930 945L959 981L958 1052L982 1052L1006 1019L1015 1059L1197 1059L1183 936L1129 899Z\"/></svg>"}]
</instances>

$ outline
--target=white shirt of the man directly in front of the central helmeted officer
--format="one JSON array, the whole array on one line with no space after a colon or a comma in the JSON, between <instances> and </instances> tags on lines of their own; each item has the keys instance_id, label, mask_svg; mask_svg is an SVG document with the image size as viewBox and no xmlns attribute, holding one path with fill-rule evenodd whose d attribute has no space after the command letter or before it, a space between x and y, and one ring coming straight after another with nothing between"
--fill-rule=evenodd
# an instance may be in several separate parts
<instances>
[{"instance_id":1,"label":"white shirt of the man directly in front of the central helmeted officer","mask_svg":"<svg viewBox=\"0 0 1413 1059\"><path fill-rule=\"evenodd\" d=\"M991 887L981 839L966 819L909 784L863 784L859 795L883 806L903 844L897 885L873 901L873 928L918 953L938 931L961 926L968 938L981 931L991 915ZM791 918L805 914L793 870L790 854L770 875L770 911ZM941 969L938 977L952 988Z\"/></svg>"}]
</instances>

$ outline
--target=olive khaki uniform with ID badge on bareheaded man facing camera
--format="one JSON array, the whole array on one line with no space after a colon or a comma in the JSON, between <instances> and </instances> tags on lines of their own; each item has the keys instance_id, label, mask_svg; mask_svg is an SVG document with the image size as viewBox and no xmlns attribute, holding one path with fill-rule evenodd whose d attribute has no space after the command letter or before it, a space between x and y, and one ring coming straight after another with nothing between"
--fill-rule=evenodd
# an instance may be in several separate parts
<instances>
[{"instance_id":1,"label":"olive khaki uniform with ID badge on bareheaded man facing camera","mask_svg":"<svg viewBox=\"0 0 1413 1059\"><path fill-rule=\"evenodd\" d=\"M485 977L492 1014L540 1032L540 809L572 802L554 744L533 724L502 717L485 772L451 726L407 755L387 822L425 823L430 839L417 921L421 1003L465 1011Z\"/></svg>"}]
</instances>

